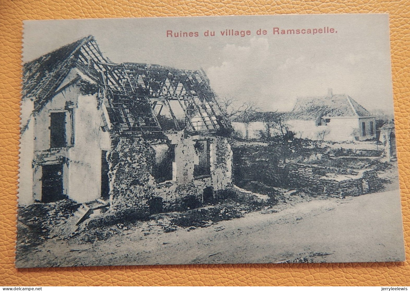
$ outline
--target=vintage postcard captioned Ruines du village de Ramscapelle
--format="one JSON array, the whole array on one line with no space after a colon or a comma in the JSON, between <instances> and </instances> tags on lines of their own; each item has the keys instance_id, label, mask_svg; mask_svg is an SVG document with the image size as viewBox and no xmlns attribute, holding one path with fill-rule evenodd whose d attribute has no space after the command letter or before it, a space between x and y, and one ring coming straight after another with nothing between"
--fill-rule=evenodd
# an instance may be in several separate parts
<instances>
[{"instance_id":1,"label":"vintage postcard captioned Ruines du village de Ramscapelle","mask_svg":"<svg viewBox=\"0 0 410 291\"><path fill-rule=\"evenodd\" d=\"M387 14L25 21L16 266L403 261Z\"/></svg>"}]
</instances>

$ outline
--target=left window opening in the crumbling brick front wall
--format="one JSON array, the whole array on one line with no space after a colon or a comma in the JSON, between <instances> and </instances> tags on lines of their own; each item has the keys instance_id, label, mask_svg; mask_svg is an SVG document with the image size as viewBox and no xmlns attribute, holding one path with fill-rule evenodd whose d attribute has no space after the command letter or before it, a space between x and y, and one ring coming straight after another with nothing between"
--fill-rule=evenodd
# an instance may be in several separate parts
<instances>
[{"instance_id":1,"label":"left window opening in the crumbling brick front wall","mask_svg":"<svg viewBox=\"0 0 410 291\"><path fill-rule=\"evenodd\" d=\"M173 179L173 162L175 161L174 145L160 144L153 146L155 160L153 176L155 182L162 183Z\"/></svg>"}]
</instances>

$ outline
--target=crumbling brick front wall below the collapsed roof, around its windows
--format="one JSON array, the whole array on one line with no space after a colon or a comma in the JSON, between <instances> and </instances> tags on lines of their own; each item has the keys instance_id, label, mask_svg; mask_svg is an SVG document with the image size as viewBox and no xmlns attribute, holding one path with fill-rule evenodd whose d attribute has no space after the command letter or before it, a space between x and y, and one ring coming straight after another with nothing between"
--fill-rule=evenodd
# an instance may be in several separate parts
<instances>
[{"instance_id":1,"label":"crumbling brick front wall below the collapsed roof, around its windows","mask_svg":"<svg viewBox=\"0 0 410 291\"><path fill-rule=\"evenodd\" d=\"M110 180L110 210L145 216L155 212L199 207L204 189L215 195L232 187L232 152L226 139L205 137L210 142L210 176L193 176L194 140L174 139L177 171L173 180L161 183L153 177L154 145L167 139L120 138L107 153Z\"/></svg>"}]
</instances>

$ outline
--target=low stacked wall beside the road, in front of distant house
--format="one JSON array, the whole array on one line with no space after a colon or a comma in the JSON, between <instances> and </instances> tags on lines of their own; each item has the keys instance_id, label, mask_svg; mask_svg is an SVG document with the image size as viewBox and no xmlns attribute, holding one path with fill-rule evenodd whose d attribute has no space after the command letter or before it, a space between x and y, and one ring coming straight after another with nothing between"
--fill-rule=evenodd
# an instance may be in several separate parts
<instances>
[{"instance_id":1,"label":"low stacked wall beside the road, in front of distant house","mask_svg":"<svg viewBox=\"0 0 410 291\"><path fill-rule=\"evenodd\" d=\"M382 186L374 169L351 170L288 163L284 170L288 172L289 185L318 195L359 196Z\"/></svg>"}]
</instances>

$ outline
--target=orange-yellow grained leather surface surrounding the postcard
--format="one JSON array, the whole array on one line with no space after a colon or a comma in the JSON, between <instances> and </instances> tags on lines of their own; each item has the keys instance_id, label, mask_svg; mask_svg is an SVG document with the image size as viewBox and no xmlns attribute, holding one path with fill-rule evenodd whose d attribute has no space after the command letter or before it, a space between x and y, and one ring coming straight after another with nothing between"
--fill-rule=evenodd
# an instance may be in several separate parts
<instances>
[{"instance_id":1,"label":"orange-yellow grained leather surface surrounding the postcard","mask_svg":"<svg viewBox=\"0 0 410 291\"><path fill-rule=\"evenodd\" d=\"M410 1L0 0L0 285L410 285ZM406 257L403 263L14 268L22 20L389 13ZM358 28L359 29L359 28Z\"/></svg>"}]
</instances>

